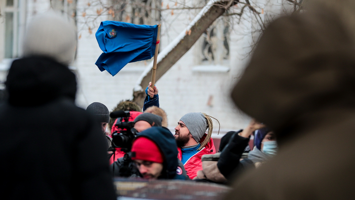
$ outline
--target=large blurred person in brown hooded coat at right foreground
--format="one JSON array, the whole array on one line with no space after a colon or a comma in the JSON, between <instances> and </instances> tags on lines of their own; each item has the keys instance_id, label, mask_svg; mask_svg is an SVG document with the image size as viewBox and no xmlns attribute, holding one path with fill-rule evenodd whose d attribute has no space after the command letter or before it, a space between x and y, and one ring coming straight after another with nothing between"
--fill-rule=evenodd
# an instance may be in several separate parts
<instances>
[{"instance_id":1,"label":"large blurred person in brown hooded coat at right foreground","mask_svg":"<svg viewBox=\"0 0 355 200\"><path fill-rule=\"evenodd\" d=\"M279 152L226 200L354 198L354 7L323 0L265 30L232 99L275 132Z\"/></svg>"}]
</instances>

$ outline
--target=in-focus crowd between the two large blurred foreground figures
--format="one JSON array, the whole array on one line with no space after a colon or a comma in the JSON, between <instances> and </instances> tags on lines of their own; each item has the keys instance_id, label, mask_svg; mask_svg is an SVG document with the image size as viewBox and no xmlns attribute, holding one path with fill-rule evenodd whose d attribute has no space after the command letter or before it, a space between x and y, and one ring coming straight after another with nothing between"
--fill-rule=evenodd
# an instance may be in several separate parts
<instances>
[{"instance_id":1,"label":"in-focus crowd between the two large blurred foreground figures","mask_svg":"<svg viewBox=\"0 0 355 200\"><path fill-rule=\"evenodd\" d=\"M102 134L107 139L110 170L114 177L183 179L227 184L231 174L241 173L244 168L258 167L277 153L275 134L255 120L251 120L245 129L226 133L222 137L219 153L216 152L211 138L212 117L207 114L185 114L178 121L173 135L169 129L162 126L166 113L159 108L157 87L152 88L149 83L146 94L143 113L134 111L137 105L132 106L133 102L125 102L128 107L117 106L127 111L129 117L116 119L111 126L111 134L106 134L106 126L110 120L106 106L94 102L86 109L98 121ZM157 110L160 112L154 112ZM126 150L122 151L114 140L122 142L121 135L131 134L121 127L125 120L132 122L130 131L135 138L132 147L125 147ZM120 136L117 136L118 134ZM255 148L250 151L249 138L252 134L255 136ZM213 158L212 162L208 159L209 155ZM205 159L202 159L203 157ZM175 173L166 174L167 170L169 173Z\"/></svg>"}]
</instances>

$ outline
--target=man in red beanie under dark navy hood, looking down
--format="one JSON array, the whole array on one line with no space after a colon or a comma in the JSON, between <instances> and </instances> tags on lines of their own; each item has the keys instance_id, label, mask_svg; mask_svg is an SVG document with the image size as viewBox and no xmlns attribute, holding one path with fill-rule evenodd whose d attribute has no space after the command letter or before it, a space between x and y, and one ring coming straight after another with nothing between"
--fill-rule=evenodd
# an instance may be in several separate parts
<instances>
[{"instance_id":1,"label":"man in red beanie under dark navy hood, looking down","mask_svg":"<svg viewBox=\"0 0 355 200\"><path fill-rule=\"evenodd\" d=\"M145 179L188 179L178 166L175 138L165 127L142 131L133 141L131 157Z\"/></svg>"}]
</instances>

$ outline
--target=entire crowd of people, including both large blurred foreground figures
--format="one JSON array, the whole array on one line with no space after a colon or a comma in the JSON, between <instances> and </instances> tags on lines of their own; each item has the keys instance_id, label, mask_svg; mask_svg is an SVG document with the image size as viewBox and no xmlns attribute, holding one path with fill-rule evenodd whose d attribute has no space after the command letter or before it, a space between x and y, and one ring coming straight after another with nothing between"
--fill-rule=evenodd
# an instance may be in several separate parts
<instances>
[{"instance_id":1,"label":"entire crowd of people, including both large blurred foreground figures","mask_svg":"<svg viewBox=\"0 0 355 200\"><path fill-rule=\"evenodd\" d=\"M215 118L184 114L172 133L151 83L142 110L117 105L125 117L110 118L99 102L75 106L75 28L38 15L0 103L0 169L11 175L1 197L113 200L113 177L230 185L226 200L353 197L355 37L336 9L317 5L265 30L232 91L254 119L218 151Z\"/></svg>"}]
</instances>

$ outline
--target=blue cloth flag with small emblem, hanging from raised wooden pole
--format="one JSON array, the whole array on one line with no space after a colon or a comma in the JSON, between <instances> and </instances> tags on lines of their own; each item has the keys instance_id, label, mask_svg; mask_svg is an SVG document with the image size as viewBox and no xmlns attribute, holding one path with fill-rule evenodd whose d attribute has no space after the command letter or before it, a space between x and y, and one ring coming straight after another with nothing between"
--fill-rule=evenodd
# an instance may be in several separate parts
<instances>
[{"instance_id":1,"label":"blue cloth flag with small emblem, hanging from raised wooden pole","mask_svg":"<svg viewBox=\"0 0 355 200\"><path fill-rule=\"evenodd\" d=\"M95 65L115 76L128 63L148 60L154 56L158 26L125 22L101 22L96 40L101 50Z\"/></svg>"}]
</instances>

